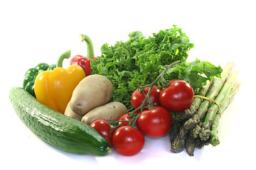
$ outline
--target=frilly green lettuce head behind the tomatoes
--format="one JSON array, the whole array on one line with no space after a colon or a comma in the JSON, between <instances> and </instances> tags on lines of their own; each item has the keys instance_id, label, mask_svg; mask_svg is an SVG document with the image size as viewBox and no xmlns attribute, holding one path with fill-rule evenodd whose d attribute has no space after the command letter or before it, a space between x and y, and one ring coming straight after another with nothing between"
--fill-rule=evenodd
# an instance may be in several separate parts
<instances>
[{"instance_id":1,"label":"frilly green lettuce head behind the tomatoes","mask_svg":"<svg viewBox=\"0 0 256 170\"><path fill-rule=\"evenodd\" d=\"M207 79L220 77L222 69L210 62L186 62L188 51L193 43L181 28L160 30L152 37L145 38L142 32L129 33L127 42L102 45L99 60L91 60L92 74L101 74L114 86L113 101L124 103L132 108L131 96L139 86L150 84L164 69L164 65L181 61L169 69L164 77L167 80L183 79L198 89Z\"/></svg>"}]
</instances>

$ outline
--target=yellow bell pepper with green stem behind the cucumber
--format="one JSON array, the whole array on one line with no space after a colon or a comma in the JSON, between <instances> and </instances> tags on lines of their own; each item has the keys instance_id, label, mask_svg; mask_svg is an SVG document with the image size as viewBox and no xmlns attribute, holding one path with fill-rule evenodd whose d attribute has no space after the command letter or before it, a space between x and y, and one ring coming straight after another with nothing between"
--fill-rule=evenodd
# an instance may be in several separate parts
<instances>
[{"instance_id":1,"label":"yellow bell pepper with green stem behind the cucumber","mask_svg":"<svg viewBox=\"0 0 256 170\"><path fill-rule=\"evenodd\" d=\"M60 55L57 67L53 71L39 73L34 85L38 101L63 114L75 87L85 78L85 72L79 65L71 65L68 69L62 67L64 58L69 57L70 50Z\"/></svg>"}]
</instances>

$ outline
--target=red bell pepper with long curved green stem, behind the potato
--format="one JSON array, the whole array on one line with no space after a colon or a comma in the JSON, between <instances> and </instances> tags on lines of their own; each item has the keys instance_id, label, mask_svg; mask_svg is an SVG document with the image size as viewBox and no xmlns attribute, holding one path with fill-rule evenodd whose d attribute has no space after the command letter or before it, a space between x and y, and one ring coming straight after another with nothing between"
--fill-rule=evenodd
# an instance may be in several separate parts
<instances>
[{"instance_id":1,"label":"red bell pepper with long curved green stem, behind the potato","mask_svg":"<svg viewBox=\"0 0 256 170\"><path fill-rule=\"evenodd\" d=\"M85 76L89 76L92 72L92 68L90 67L90 60L98 60L98 57L95 57L93 46L92 46L92 40L87 35L80 34L80 41L86 42L87 45L87 57L84 57L82 55L76 55L70 60L70 65L78 64L82 69L85 71Z\"/></svg>"}]
</instances>

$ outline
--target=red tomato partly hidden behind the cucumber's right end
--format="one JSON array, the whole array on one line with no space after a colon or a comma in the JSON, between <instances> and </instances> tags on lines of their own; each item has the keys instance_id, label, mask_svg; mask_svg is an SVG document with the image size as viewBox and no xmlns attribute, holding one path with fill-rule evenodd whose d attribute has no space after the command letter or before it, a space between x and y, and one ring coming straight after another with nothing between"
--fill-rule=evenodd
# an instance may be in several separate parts
<instances>
[{"instance_id":1,"label":"red tomato partly hidden behind the cucumber's right end","mask_svg":"<svg viewBox=\"0 0 256 170\"><path fill-rule=\"evenodd\" d=\"M107 120L96 119L90 124L90 126L99 132L102 137L105 137L105 139L110 143L110 146L112 146L113 133L110 135L110 125L108 124Z\"/></svg>"}]
</instances>

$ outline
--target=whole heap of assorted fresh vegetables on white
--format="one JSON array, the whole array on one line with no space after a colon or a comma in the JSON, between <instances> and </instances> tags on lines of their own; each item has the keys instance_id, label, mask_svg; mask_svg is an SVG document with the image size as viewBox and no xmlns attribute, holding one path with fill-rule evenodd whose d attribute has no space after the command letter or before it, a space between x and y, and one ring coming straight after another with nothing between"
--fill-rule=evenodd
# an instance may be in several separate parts
<instances>
[{"instance_id":1,"label":"whole heap of assorted fresh vegetables on white","mask_svg":"<svg viewBox=\"0 0 256 170\"><path fill-rule=\"evenodd\" d=\"M181 28L152 37L135 31L127 42L102 45L95 57L77 55L64 69L70 50L57 64L26 72L23 88L9 98L17 115L38 137L75 154L104 156L113 148L124 156L139 153L144 136L170 135L171 152L219 144L218 122L240 88L233 63L216 67L186 62L193 44Z\"/></svg>"}]
</instances>

